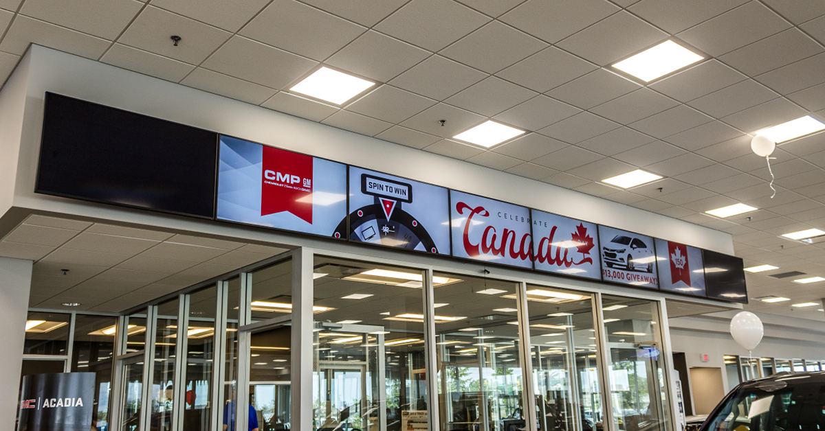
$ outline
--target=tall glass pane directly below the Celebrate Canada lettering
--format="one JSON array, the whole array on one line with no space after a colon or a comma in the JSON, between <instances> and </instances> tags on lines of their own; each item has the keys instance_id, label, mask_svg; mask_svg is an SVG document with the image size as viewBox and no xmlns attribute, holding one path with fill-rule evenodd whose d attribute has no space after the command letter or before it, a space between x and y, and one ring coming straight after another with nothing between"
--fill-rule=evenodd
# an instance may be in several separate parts
<instances>
[{"instance_id":1,"label":"tall glass pane directly below the Celebrate Canada lettering","mask_svg":"<svg viewBox=\"0 0 825 431\"><path fill-rule=\"evenodd\" d=\"M520 284L436 273L433 285L441 429L524 429Z\"/></svg>"}]
</instances>

